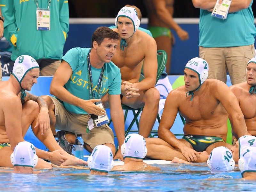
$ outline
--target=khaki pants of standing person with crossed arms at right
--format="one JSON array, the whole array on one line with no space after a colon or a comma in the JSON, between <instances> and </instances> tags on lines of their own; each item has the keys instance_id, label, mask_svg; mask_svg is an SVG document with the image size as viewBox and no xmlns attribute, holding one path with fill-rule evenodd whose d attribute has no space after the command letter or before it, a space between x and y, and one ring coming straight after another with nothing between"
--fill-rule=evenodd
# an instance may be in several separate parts
<instances>
[{"instance_id":1,"label":"khaki pants of standing person with crossed arms at right","mask_svg":"<svg viewBox=\"0 0 256 192\"><path fill-rule=\"evenodd\" d=\"M199 47L199 57L209 65L209 79L227 83L227 72L232 84L246 81L246 68L255 57L254 44L240 47Z\"/></svg>"}]
</instances>

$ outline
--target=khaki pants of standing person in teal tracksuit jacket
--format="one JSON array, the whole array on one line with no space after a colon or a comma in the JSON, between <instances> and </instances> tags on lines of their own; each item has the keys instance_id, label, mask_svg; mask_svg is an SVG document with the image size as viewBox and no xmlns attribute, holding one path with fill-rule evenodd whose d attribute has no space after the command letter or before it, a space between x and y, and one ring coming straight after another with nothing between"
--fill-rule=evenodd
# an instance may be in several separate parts
<instances>
[{"instance_id":1,"label":"khaki pants of standing person in teal tracksuit jacket","mask_svg":"<svg viewBox=\"0 0 256 192\"><path fill-rule=\"evenodd\" d=\"M40 76L53 76L60 66L60 60L56 59L38 59L36 62L40 67Z\"/></svg>"}]
</instances>

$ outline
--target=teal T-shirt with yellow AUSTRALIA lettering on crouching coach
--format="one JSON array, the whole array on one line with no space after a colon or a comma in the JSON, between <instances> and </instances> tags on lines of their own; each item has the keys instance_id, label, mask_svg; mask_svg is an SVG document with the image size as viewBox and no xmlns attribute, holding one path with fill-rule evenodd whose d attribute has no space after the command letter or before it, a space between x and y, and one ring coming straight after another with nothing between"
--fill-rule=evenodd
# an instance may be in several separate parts
<instances>
[{"instance_id":1,"label":"teal T-shirt with yellow AUSTRALIA lettering on crouching coach","mask_svg":"<svg viewBox=\"0 0 256 192\"><path fill-rule=\"evenodd\" d=\"M70 76L68 82L64 85L64 88L68 90L71 94L75 95L78 98L89 100L89 84L88 84L88 64L87 64L87 56L89 53L89 48L72 48L70 49L62 58L61 61L64 60L68 62L70 67L72 68L72 75ZM101 69L97 69L91 66L92 69L92 87L95 93L95 99L100 99L99 94L97 94L98 90L97 84L99 81ZM120 69L110 61L110 63L104 64L104 74L102 77L103 85L101 94L102 97L108 93L111 95L121 94L121 73ZM87 114L84 109L80 107L76 107L69 103L65 103L60 101L63 106L70 112L77 114Z\"/></svg>"}]
</instances>

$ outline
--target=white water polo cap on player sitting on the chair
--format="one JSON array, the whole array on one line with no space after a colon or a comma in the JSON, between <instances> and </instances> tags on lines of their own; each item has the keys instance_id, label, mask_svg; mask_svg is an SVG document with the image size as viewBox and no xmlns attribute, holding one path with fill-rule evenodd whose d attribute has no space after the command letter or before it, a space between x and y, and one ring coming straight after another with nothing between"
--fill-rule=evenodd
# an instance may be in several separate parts
<instances>
[{"instance_id":1,"label":"white water polo cap on player sitting on the chair","mask_svg":"<svg viewBox=\"0 0 256 192\"><path fill-rule=\"evenodd\" d=\"M140 20L138 18L138 13L136 9L133 7L123 7L122 9L120 9L115 20L116 27L117 27L117 21L119 17L127 17L130 20L132 20L133 29L134 29L133 33L135 33L135 31L140 27Z\"/></svg>"}]
</instances>

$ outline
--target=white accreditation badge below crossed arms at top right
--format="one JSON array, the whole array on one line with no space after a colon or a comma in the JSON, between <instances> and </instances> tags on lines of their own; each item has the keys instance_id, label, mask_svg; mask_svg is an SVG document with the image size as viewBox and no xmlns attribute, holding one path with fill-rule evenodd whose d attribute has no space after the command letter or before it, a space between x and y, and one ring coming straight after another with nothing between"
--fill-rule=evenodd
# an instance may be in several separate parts
<instances>
[{"instance_id":1,"label":"white accreditation badge below crossed arms at top right","mask_svg":"<svg viewBox=\"0 0 256 192\"><path fill-rule=\"evenodd\" d=\"M211 15L219 19L227 19L231 2L232 0L217 0Z\"/></svg>"}]
</instances>

